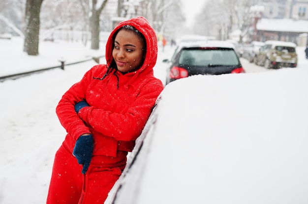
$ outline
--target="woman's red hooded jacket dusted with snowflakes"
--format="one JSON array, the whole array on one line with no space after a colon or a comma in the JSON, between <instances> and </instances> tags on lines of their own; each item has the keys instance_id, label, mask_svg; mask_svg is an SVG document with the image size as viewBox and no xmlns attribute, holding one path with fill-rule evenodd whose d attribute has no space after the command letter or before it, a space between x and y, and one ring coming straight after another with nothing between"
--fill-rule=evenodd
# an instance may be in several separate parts
<instances>
[{"instance_id":1,"label":"woman's red hooded jacket dusted with snowflakes","mask_svg":"<svg viewBox=\"0 0 308 204\"><path fill-rule=\"evenodd\" d=\"M112 70L104 79L97 79L105 75L111 64L114 33L124 25L135 27L145 36L147 53L144 63L135 72L123 75ZM134 141L141 134L163 89L162 82L153 73L157 59L156 39L154 29L143 17L124 21L111 32L106 44L107 64L92 67L63 95L56 108L67 131L63 146L68 151L73 151L80 135L92 133L94 151L91 165L122 166L126 162L127 151L133 149ZM77 115L74 105L83 100L90 106L82 108Z\"/></svg>"}]
</instances>

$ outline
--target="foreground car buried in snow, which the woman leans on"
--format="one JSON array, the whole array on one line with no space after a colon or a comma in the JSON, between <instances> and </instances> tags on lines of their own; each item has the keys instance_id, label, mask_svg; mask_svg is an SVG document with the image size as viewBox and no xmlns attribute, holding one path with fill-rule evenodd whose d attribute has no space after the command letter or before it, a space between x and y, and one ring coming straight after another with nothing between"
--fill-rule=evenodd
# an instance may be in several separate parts
<instances>
[{"instance_id":1,"label":"foreground car buried in snow, which the woman leans on","mask_svg":"<svg viewBox=\"0 0 308 204\"><path fill-rule=\"evenodd\" d=\"M170 83L105 204L307 204L308 97L294 92L305 76L281 69Z\"/></svg>"}]
</instances>

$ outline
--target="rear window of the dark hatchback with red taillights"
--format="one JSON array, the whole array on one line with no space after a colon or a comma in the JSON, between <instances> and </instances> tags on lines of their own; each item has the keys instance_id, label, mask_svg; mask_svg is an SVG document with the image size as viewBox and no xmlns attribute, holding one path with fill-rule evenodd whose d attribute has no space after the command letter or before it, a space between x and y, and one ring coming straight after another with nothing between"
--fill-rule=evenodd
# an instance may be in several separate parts
<instances>
[{"instance_id":1,"label":"rear window of the dark hatchback with red taillights","mask_svg":"<svg viewBox=\"0 0 308 204\"><path fill-rule=\"evenodd\" d=\"M231 48L186 48L180 53L179 64L233 66L239 64L239 59Z\"/></svg>"}]
</instances>

